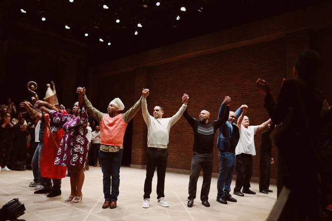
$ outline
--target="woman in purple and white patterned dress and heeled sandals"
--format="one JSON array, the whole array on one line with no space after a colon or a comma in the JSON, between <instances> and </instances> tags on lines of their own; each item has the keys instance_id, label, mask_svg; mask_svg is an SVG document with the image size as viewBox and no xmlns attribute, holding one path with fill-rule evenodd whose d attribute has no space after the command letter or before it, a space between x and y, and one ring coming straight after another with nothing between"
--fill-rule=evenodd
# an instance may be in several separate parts
<instances>
[{"instance_id":1,"label":"woman in purple and white patterned dress and heeled sandals","mask_svg":"<svg viewBox=\"0 0 332 221\"><path fill-rule=\"evenodd\" d=\"M79 102L73 107L73 115L62 114L51 110L50 128L54 133L63 128L65 134L54 164L67 166L70 169L71 194L65 202L79 203L82 201L82 186L84 182L83 166L88 152L86 139L87 112L83 107L83 89L77 88Z\"/></svg>"}]
</instances>

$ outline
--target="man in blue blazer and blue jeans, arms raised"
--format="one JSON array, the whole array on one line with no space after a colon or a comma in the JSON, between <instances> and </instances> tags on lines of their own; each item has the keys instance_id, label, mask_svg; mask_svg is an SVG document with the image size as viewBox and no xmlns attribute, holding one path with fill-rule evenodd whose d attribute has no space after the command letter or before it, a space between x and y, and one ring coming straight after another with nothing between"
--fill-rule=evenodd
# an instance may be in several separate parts
<instances>
[{"instance_id":1,"label":"man in blue blazer and blue jeans, arms raised","mask_svg":"<svg viewBox=\"0 0 332 221\"><path fill-rule=\"evenodd\" d=\"M229 98L228 96L225 97ZM218 119L222 118L221 110L224 102L221 104ZM230 111L228 121L219 128L217 147L219 149L219 175L217 180L217 201L222 204L227 204L227 201L237 202L230 194L231 183L233 178L233 171L235 169L235 147L240 138L239 128L235 123L235 119L241 115L242 108L248 108L247 105L242 105L235 112Z\"/></svg>"}]
</instances>

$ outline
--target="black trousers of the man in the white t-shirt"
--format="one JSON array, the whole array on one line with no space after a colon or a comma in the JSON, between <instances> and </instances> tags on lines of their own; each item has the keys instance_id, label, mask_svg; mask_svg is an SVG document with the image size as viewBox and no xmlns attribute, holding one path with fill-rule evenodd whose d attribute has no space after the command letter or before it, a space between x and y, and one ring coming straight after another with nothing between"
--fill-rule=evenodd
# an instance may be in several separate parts
<instances>
[{"instance_id":1,"label":"black trousers of the man in the white t-shirt","mask_svg":"<svg viewBox=\"0 0 332 221\"><path fill-rule=\"evenodd\" d=\"M237 172L234 191L249 189L252 175L252 155L241 153L236 155L235 169Z\"/></svg>"}]
</instances>

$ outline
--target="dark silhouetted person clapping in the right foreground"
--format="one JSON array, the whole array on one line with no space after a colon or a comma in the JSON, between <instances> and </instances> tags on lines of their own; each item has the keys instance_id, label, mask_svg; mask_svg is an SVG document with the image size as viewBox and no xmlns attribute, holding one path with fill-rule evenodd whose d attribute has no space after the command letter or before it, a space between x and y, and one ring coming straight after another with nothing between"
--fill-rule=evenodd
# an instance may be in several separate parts
<instances>
[{"instance_id":1,"label":"dark silhouetted person clapping in the right foreground","mask_svg":"<svg viewBox=\"0 0 332 221\"><path fill-rule=\"evenodd\" d=\"M322 93L314 86L319 66L317 52L306 50L297 57L294 79L283 82L277 102L268 84L257 80L265 95L264 107L272 122L281 124L275 134L278 148L278 195L283 187L290 190L280 220L321 220L319 207L318 160L315 137L318 116L323 105Z\"/></svg>"}]
</instances>

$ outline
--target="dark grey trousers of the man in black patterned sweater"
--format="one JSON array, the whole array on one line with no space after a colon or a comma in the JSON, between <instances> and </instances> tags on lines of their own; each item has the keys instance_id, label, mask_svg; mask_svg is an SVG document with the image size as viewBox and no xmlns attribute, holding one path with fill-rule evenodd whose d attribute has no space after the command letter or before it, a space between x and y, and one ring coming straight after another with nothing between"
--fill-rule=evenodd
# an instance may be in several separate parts
<instances>
[{"instance_id":1,"label":"dark grey trousers of the man in black patterned sweater","mask_svg":"<svg viewBox=\"0 0 332 221\"><path fill-rule=\"evenodd\" d=\"M189 177L188 199L196 198L197 180L201 169L203 169L203 184L201 189L201 200L209 199L211 176L213 169L213 152L211 153L193 153L191 159L191 173Z\"/></svg>"}]
</instances>

